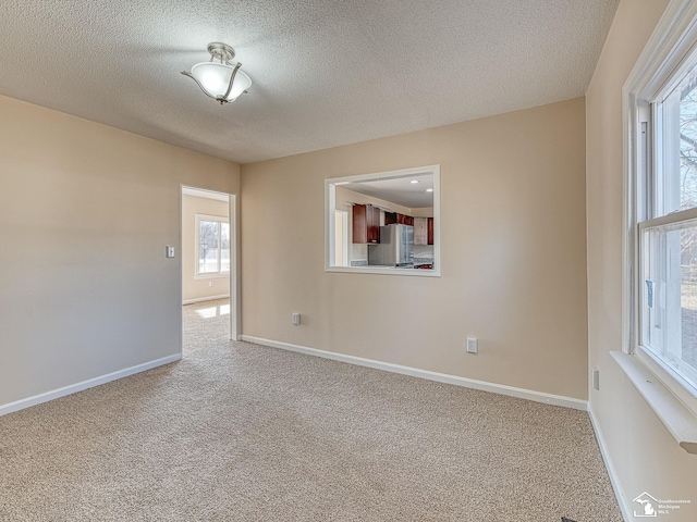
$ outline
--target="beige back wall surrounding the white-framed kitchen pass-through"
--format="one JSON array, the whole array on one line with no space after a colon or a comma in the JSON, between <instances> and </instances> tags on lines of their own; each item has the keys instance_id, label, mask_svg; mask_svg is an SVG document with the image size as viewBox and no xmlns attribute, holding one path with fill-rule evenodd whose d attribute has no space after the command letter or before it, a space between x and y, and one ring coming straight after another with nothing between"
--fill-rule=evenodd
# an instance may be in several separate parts
<instances>
[{"instance_id":1,"label":"beige back wall surrounding the white-framed kitchen pass-through","mask_svg":"<svg viewBox=\"0 0 697 522\"><path fill-rule=\"evenodd\" d=\"M584 136L575 99L243 165L243 333L585 399ZM326 273L323 179L431 164L442 276Z\"/></svg>"}]
</instances>

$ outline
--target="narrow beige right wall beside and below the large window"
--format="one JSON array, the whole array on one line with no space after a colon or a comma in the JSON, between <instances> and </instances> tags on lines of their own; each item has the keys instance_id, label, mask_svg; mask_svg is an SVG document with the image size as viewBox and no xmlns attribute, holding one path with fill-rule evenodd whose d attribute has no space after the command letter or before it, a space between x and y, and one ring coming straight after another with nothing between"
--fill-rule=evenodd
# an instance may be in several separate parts
<instances>
[{"instance_id":1,"label":"narrow beige right wall beside and below the large window","mask_svg":"<svg viewBox=\"0 0 697 522\"><path fill-rule=\"evenodd\" d=\"M643 492L690 499L670 520L695 521L697 456L677 446L608 355L622 349L622 86L667 3L622 1L587 91L588 355L601 383L589 399L626 505Z\"/></svg>"}]
</instances>

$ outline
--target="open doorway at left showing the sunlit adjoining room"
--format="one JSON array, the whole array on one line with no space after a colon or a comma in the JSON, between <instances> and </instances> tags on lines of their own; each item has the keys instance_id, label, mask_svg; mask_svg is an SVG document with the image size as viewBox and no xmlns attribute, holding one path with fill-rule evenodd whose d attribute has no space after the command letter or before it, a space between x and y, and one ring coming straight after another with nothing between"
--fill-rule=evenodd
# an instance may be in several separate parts
<instances>
[{"instance_id":1,"label":"open doorway at left showing the sunlit adjoining room","mask_svg":"<svg viewBox=\"0 0 697 522\"><path fill-rule=\"evenodd\" d=\"M237 339L235 196L181 190L182 355Z\"/></svg>"}]
</instances>

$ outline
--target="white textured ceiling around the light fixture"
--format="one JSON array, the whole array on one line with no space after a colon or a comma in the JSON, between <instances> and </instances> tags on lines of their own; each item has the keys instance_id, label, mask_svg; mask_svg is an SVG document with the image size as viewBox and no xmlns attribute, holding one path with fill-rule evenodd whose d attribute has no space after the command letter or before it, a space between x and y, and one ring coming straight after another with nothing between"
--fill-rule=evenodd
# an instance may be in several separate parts
<instances>
[{"instance_id":1,"label":"white textured ceiling around the light fixture","mask_svg":"<svg viewBox=\"0 0 697 522\"><path fill-rule=\"evenodd\" d=\"M240 163L584 95L617 0L3 0L0 94ZM223 41L221 107L182 76Z\"/></svg>"}]
</instances>

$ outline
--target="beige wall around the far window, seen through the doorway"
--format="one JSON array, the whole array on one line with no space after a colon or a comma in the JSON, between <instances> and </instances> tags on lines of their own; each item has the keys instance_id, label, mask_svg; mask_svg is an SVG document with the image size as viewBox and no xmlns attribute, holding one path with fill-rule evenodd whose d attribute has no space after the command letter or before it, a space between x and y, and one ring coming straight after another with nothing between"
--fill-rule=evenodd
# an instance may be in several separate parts
<instances>
[{"instance_id":1,"label":"beige wall around the far window, seen through the doorway","mask_svg":"<svg viewBox=\"0 0 697 522\"><path fill-rule=\"evenodd\" d=\"M230 204L224 201L186 194L182 196L182 299L184 302L230 294L230 277L196 277L196 214L228 217L229 213Z\"/></svg>"}]
</instances>

